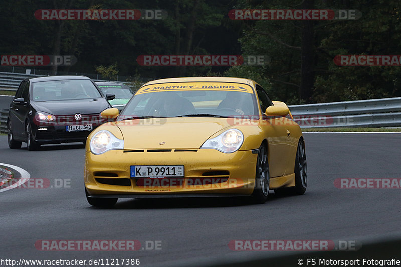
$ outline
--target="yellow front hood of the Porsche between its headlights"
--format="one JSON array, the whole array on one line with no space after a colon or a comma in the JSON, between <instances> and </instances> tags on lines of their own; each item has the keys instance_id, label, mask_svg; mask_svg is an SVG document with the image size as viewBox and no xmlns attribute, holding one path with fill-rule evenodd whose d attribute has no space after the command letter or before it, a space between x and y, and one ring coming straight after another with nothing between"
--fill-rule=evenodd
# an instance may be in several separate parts
<instances>
[{"instance_id":1,"label":"yellow front hood of the Porsche between its headlights","mask_svg":"<svg viewBox=\"0 0 401 267\"><path fill-rule=\"evenodd\" d=\"M198 149L230 126L227 118L155 118L119 121L124 149ZM161 145L161 143L163 143Z\"/></svg>"}]
</instances>

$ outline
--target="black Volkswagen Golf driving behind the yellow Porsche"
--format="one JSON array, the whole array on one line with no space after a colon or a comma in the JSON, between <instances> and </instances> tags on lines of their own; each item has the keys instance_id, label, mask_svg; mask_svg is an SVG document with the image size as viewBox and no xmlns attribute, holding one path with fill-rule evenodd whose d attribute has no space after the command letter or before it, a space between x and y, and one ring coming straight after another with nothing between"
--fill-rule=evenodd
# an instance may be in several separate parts
<instances>
[{"instance_id":1,"label":"black Volkswagen Golf driving behind the yellow Porsche","mask_svg":"<svg viewBox=\"0 0 401 267\"><path fill-rule=\"evenodd\" d=\"M28 150L36 150L41 144L85 142L105 122L100 113L111 108L107 100L114 97L85 76L25 79L10 104L9 147L26 142Z\"/></svg>"}]
</instances>

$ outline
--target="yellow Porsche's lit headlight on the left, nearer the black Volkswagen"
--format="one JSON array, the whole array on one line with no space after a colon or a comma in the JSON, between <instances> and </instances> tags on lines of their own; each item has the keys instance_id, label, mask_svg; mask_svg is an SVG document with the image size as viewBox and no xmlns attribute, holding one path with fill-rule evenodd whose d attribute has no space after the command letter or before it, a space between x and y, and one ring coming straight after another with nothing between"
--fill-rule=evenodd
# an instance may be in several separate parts
<instances>
[{"instance_id":1,"label":"yellow Porsche's lit headlight on the left, nearer the black Volkswagen","mask_svg":"<svg viewBox=\"0 0 401 267\"><path fill-rule=\"evenodd\" d=\"M89 147L93 154L99 155L113 149L123 149L124 140L118 139L106 130L97 132L92 136Z\"/></svg>"}]
</instances>

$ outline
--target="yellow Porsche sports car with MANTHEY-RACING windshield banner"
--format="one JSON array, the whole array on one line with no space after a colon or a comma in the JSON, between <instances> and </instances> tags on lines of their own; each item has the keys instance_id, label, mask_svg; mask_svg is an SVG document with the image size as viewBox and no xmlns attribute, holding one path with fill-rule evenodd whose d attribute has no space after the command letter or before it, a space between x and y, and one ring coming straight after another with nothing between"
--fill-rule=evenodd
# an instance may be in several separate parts
<instances>
[{"instance_id":1,"label":"yellow Porsche sports car with MANTHEY-RACING windshield banner","mask_svg":"<svg viewBox=\"0 0 401 267\"><path fill-rule=\"evenodd\" d=\"M256 82L190 77L143 85L86 142L89 204L118 198L305 192L305 143L286 104Z\"/></svg>"}]
</instances>

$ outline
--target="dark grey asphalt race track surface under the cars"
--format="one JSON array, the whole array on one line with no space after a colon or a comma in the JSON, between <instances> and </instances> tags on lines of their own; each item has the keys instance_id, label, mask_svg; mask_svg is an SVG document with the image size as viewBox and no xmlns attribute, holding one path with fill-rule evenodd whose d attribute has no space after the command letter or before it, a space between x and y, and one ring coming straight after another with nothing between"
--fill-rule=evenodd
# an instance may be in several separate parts
<instances>
[{"instance_id":1,"label":"dark grey asphalt race track surface under the cars","mask_svg":"<svg viewBox=\"0 0 401 267\"><path fill-rule=\"evenodd\" d=\"M71 179L70 188L0 192L2 258L139 258L141 266L200 266L295 253L232 251L231 240L356 240L363 247L369 238L401 236L399 189L338 189L333 184L336 178L401 178L401 134L304 136L308 189L303 196L275 197L271 191L262 205L244 198L120 199L113 209L86 202L83 145L48 145L29 152L25 144L9 149L7 137L0 136L0 162L50 184ZM142 247L146 240L161 240L162 249L39 251L34 246L38 240L139 240Z\"/></svg>"}]
</instances>

